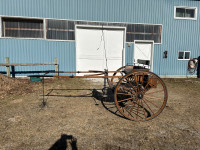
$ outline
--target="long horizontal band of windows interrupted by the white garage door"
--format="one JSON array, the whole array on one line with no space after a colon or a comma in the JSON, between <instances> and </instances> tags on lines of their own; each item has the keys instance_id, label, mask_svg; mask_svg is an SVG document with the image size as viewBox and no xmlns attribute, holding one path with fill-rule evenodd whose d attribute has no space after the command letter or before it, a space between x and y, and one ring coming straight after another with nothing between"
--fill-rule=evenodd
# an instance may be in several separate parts
<instances>
[{"instance_id":1,"label":"long horizontal band of windows interrupted by the white garage door","mask_svg":"<svg viewBox=\"0 0 200 150\"><path fill-rule=\"evenodd\" d=\"M75 40L75 25L120 26L126 27L126 42L135 40L161 43L162 25L91 22L57 19L37 19L19 17L1 17L0 29L2 37L38 38L48 40Z\"/></svg>"}]
</instances>

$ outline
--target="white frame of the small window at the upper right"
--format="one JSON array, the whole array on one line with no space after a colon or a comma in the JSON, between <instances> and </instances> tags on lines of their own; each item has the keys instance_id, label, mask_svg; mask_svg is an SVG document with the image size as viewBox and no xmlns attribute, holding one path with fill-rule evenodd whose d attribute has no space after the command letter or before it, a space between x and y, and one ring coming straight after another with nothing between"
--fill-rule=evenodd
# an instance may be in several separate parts
<instances>
[{"instance_id":1,"label":"white frame of the small window at the upper right","mask_svg":"<svg viewBox=\"0 0 200 150\"><path fill-rule=\"evenodd\" d=\"M194 18L189 17L176 17L176 9L184 8L184 9L193 9L194 10ZM174 6L174 19L182 19L182 20L197 20L197 7L189 7L189 6Z\"/></svg>"}]
</instances>

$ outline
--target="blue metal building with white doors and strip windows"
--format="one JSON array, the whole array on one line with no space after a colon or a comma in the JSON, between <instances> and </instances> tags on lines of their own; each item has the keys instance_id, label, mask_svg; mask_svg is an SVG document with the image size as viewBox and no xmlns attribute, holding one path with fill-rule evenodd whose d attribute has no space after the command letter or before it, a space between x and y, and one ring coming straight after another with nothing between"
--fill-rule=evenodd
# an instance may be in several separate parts
<instances>
[{"instance_id":1,"label":"blue metal building with white doors and strip windows","mask_svg":"<svg viewBox=\"0 0 200 150\"><path fill-rule=\"evenodd\" d=\"M151 70L160 76L186 76L188 59L200 56L199 7L197 0L0 0L0 63L5 57L12 63L52 62L57 57L60 70L74 71L83 63L86 38L97 35L100 45L108 37L111 49L122 42L121 65L149 59ZM115 35L123 37L113 44ZM92 64L93 59L83 64Z\"/></svg>"}]
</instances>

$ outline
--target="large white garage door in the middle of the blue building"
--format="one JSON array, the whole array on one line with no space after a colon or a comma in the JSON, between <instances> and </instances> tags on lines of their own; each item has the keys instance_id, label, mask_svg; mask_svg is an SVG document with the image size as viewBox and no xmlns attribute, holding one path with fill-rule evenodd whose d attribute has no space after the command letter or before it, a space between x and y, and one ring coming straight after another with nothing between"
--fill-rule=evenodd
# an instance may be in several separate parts
<instances>
[{"instance_id":1,"label":"large white garage door in the middle of the blue building","mask_svg":"<svg viewBox=\"0 0 200 150\"><path fill-rule=\"evenodd\" d=\"M76 69L117 70L123 65L124 30L76 28Z\"/></svg>"}]
</instances>

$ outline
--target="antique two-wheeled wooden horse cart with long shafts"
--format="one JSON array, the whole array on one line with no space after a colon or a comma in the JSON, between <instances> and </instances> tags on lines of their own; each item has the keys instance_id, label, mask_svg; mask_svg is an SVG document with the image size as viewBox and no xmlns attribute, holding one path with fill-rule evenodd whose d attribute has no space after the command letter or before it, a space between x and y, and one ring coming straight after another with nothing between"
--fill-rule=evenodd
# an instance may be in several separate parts
<instances>
[{"instance_id":1,"label":"antique two-wheeled wooden horse cart with long shafts","mask_svg":"<svg viewBox=\"0 0 200 150\"><path fill-rule=\"evenodd\" d=\"M104 78L103 96L107 89L114 93L119 112L127 119L150 120L158 116L167 103L167 88L156 74L138 66L124 66L117 71L59 71L59 73L87 73L84 76L54 76L59 78ZM110 75L112 74L112 75ZM35 77L35 76L31 76ZM44 75L43 77L47 77ZM106 86L108 83L109 87Z\"/></svg>"}]
</instances>

